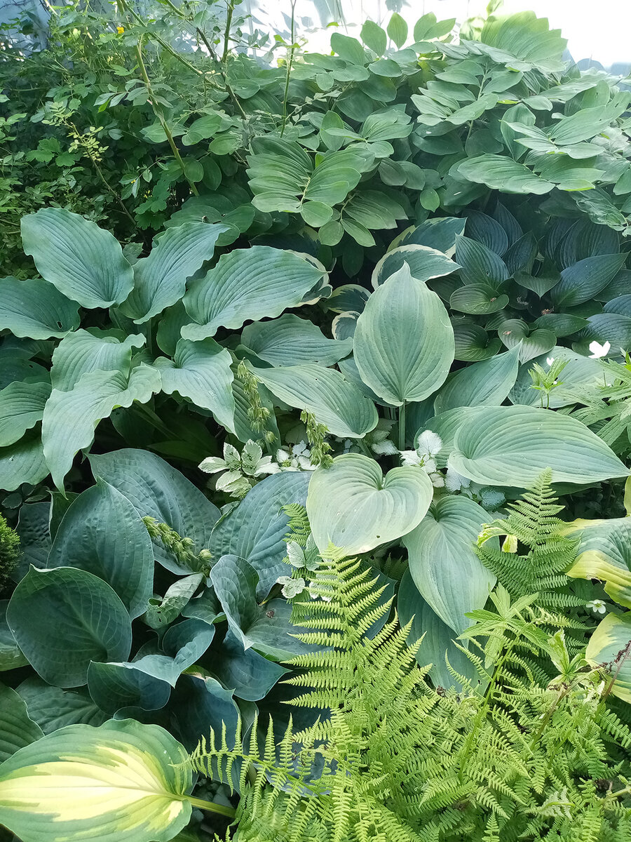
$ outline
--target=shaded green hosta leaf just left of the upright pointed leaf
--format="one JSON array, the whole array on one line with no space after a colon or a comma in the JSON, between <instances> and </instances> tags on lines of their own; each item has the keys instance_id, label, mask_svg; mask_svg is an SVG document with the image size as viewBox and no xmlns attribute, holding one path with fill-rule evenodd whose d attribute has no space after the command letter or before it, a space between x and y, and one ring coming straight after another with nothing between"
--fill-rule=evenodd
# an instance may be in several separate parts
<instances>
[{"instance_id":1,"label":"shaded green hosta leaf just left of the upright pointed leaf","mask_svg":"<svg viewBox=\"0 0 631 842\"><path fill-rule=\"evenodd\" d=\"M351 339L328 339L313 322L292 313L247 325L241 344L270 365L335 365L353 351Z\"/></svg>"}]
</instances>

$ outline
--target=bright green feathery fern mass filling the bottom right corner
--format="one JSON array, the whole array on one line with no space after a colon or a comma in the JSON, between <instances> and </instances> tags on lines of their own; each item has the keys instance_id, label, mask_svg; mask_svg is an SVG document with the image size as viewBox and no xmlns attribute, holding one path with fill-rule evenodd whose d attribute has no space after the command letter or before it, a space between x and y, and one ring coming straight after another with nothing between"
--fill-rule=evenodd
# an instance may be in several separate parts
<instances>
[{"instance_id":1,"label":"bright green feathery fern mass filling the bottom right corner","mask_svg":"<svg viewBox=\"0 0 631 842\"><path fill-rule=\"evenodd\" d=\"M562 631L549 636L554 615L534 595L512 600L500 585L495 610L472 613L463 638L477 644L468 657L485 676L484 695L463 676L461 692L438 691L416 665L422 643L406 645L410 626L394 616L367 635L390 612L369 570L331 548L326 556L312 589L329 601L294 604L309 629L300 639L321 648L290 662L288 683L299 692L294 705L328 716L295 733L290 722L278 744L271 722L262 739L255 723L243 751L225 730L211 733L189 759L241 792L228 838L628 838L631 733L607 709L598 670L571 657ZM552 682L520 678L524 646L552 661Z\"/></svg>"}]
</instances>

